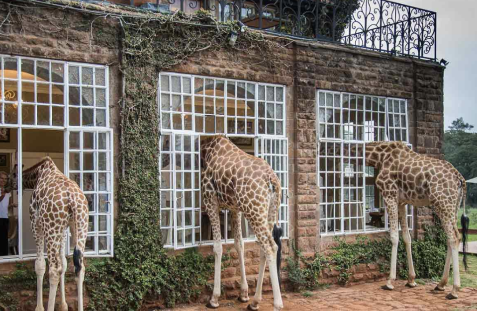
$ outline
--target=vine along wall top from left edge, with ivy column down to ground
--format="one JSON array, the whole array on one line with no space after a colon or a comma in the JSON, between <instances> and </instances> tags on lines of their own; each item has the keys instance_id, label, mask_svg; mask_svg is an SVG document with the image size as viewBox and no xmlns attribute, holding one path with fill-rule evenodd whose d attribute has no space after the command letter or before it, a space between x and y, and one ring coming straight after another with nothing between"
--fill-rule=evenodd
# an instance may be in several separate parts
<instances>
[{"instance_id":1,"label":"vine along wall top from left edge, with ivy column down to ground","mask_svg":"<svg viewBox=\"0 0 477 311\"><path fill-rule=\"evenodd\" d=\"M162 246L157 79L159 72L185 63L198 53L250 51L254 60L271 70L286 70L277 52L287 41L268 39L260 32L241 33L234 47L227 45L235 22L219 23L205 10L195 15L145 13L116 5L107 7L65 0L22 0L0 3L0 35L25 35L33 23L45 36L64 36L72 29L88 33L89 45L121 51L121 100L118 226L114 257L90 259L86 268L89 310L138 310L147 296L168 307L187 302L205 288L213 258L195 250L169 256ZM80 24L72 24L65 10L76 10ZM52 11L55 14L51 14ZM49 17L50 16L50 17ZM116 30L114 30L116 28ZM111 34L120 34L117 41ZM112 103L113 104L113 103ZM9 301L11 303L11 301Z\"/></svg>"}]
</instances>

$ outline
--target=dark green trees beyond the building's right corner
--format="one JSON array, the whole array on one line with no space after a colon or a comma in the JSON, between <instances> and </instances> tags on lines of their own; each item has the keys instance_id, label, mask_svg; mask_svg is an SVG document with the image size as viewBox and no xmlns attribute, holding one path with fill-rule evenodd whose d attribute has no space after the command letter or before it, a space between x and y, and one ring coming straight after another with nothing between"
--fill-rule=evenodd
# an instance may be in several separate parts
<instances>
[{"instance_id":1,"label":"dark green trees beyond the building's right corner","mask_svg":"<svg viewBox=\"0 0 477 311\"><path fill-rule=\"evenodd\" d=\"M469 133L473 125L458 118L452 121L449 130L444 133L444 156L454 165L464 178L477 176L477 133ZM467 185L467 204L477 205L477 187Z\"/></svg>"}]
</instances>

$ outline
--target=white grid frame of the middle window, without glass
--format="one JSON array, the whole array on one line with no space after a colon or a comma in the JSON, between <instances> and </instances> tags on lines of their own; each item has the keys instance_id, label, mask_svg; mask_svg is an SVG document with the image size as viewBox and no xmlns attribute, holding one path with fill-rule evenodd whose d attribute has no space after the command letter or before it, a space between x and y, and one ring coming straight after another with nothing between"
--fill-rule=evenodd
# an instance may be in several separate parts
<instances>
[{"instance_id":1,"label":"white grid frame of the middle window, without glass","mask_svg":"<svg viewBox=\"0 0 477 311\"><path fill-rule=\"evenodd\" d=\"M165 86L165 88L167 88L168 90L162 90L161 87L162 87L162 82L163 82L163 77L169 77L169 78L164 78L164 82L167 82L169 83L168 86ZM172 77L177 77L177 78L180 78L180 83L181 83L181 89L180 89L180 92L173 92L172 91ZM185 79L186 78L186 79ZM213 95L206 95L205 93L202 93L202 94L198 94L196 95L195 94L195 91L194 91L194 87L195 87L195 79L198 78L198 79L203 79L203 83L206 83L207 80L206 79L209 79L210 80L213 80L213 83L214 83L214 93ZM190 80L189 80L190 79ZM191 87L190 87L190 93L187 93L187 92L184 92L185 90L185 80L186 80L186 83L190 83ZM228 82L231 82L235 85L235 97L231 98L230 101L234 101L234 109L235 109L235 114L232 115L232 116L228 116L227 114L227 100L229 100L229 97L227 96L227 92L225 91L225 88L224 88L224 94L223 96L217 96L215 94L215 86L217 85L216 83L216 80L223 80L224 81L224 85L226 85L226 87L228 87ZM176 80L177 81L177 80ZM237 96L237 90L239 88L239 83L242 84L244 83L243 85L245 85L245 91L246 91L246 94L247 92L249 91L248 89L248 86L253 86L253 90L254 90L254 98L248 98L247 96L248 95L245 95L244 97L247 97L247 98L244 98L244 99L241 99ZM202 84L202 87L204 87L205 84ZM264 93L264 99L261 99L260 98L260 94L259 94L259 89L263 87L264 90L265 90L265 93ZM274 90L274 96L273 96L273 100L271 101L267 101L267 92L271 89L270 87L273 87L273 90ZM189 86L186 87L186 89L188 89L189 91ZM277 92L279 92L281 90L281 95L282 95L282 101L279 100L279 96L277 95ZM204 92L205 89L202 89L202 92ZM162 107L162 100L163 98L166 98L168 95L170 95L169 97L169 103L170 103L170 108L169 110L163 110L163 107ZM173 95L176 95L176 96L180 96L181 98L181 112L173 112L173 107L172 107L172 103L173 103L173 98L172 96ZM161 133L160 135L160 146L162 148L162 139L164 136L166 135L170 135L170 137L174 137L175 135L192 135L192 136L213 136L213 135L216 135L216 134L227 134L227 137L243 137L243 138L251 138L254 140L254 154L255 156L261 156L261 154L259 154L259 141L261 142L261 144L263 144L263 140L264 139L278 139L278 140L285 140L286 141L286 146L287 146L287 140L286 140L286 114L285 114L285 111L286 111L286 86L285 85L280 85L280 84L272 84L272 83L261 83L261 82L253 82L253 81L247 81L247 80L237 80L237 79L228 79L228 78L216 78L216 77L207 77L207 76L199 76L199 75L187 75L187 74L178 74L178 73L173 73L173 72L161 72L159 74L159 79L158 79L158 109L159 109L159 132ZM166 97L163 97L163 96L166 96ZM184 103L185 103L185 100L184 100L184 96L190 96L191 97L191 111L189 112L186 112L185 109L184 109ZM213 100L214 102L214 108L213 108L213 114L206 114L206 110L205 110L205 105L203 106L203 110L202 112L203 113L196 113L195 112L195 97L196 96L199 96L199 98L209 98L210 101ZM178 98L178 97L176 97ZM223 102L224 102L224 111L223 111L223 114L217 114L217 105L216 105L216 99L217 98L223 98ZM245 116L238 116L237 115L237 106L238 106L238 101L244 101L245 102L245 106L246 106L246 109L248 109L248 105L247 105L247 102L253 102L254 103L254 113L253 113L253 116L249 116L247 115L247 113L245 113ZM273 115L273 118L272 117L267 117L267 107L266 105L264 105L265 107L265 111L264 111L264 115L260 115L259 116L259 103L271 103L273 104L274 106L274 115ZM203 103L205 103L205 99L203 101ZM279 113L277 112L278 109L281 105L281 111L279 111ZM178 106L179 107L179 106ZM181 122L182 122L182 125L181 125L181 129L174 129L174 124L173 124L173 114L176 114L176 115L181 115ZM163 128L163 116L164 114L168 114L169 115L169 128ZM192 120L192 125L190 128L186 128L186 124L185 124L185 116L191 116L191 120ZM216 120L215 118L216 117L219 117L219 118L222 118L223 117L223 132L206 132L205 131L205 127L206 127L206 119L205 117L206 116L209 116L209 117L213 117L214 120ZM197 117L199 118L199 120L203 120L203 127L202 127L202 131L201 132L197 132L196 129L196 120L197 120ZM202 119L201 119L202 118ZM234 129L234 133L228 133L228 120L234 120L234 123L235 123L235 129ZM242 119L245 119L245 126L247 126L247 120L249 119L253 119L254 121L254 131L253 133L248 133L246 132L245 134L238 134L237 132L237 122L236 121L241 121ZM264 133L259 133L259 122L260 120L263 120L264 124L265 124L265 127L263 128L263 131ZM268 122L274 122L274 134L267 134L267 126L268 126ZM216 122L216 121L214 121ZM222 122L222 121L220 121ZM277 131L277 124L280 124L282 125L282 133L280 134L278 131ZM217 123L214 124L214 131L216 131L216 126L217 126ZM277 134L279 133L279 134ZM172 144L172 143L171 143ZM199 143L200 145L200 143ZM172 145L172 148L174 149L175 147ZM262 149L263 150L263 149ZM171 151L171 152L168 152L168 154L170 155L170 161L172 163L172 160L173 158L175 158L176 155L173 155L175 154L174 151ZM162 179L161 177L161 166L162 166L162 156L160 154L159 156L159 178L160 180ZM200 159L199 159L200 161ZM283 198L286 199L285 202L282 202L281 204L281 207L280 207L280 212L284 212L285 214L281 214L279 215L279 223L280 224L286 224L286 232L284 233L284 237L283 238L287 238L289 235L288 233L288 197L287 197L287 191L288 191L288 176L287 176L287 170L288 170L288 147L286 147L286 181L283 182L284 185L282 187L282 189L286 192L286 196L283 196ZM281 169L278 173L279 174L282 174L284 173L285 170ZM176 169L175 169L175 163L174 163L174 167L170 167L168 172L170 172L173 176L176 175ZM200 176L200 171L199 171L199 176ZM176 177L174 177L173 182L175 180ZM200 179L200 178L199 178ZM162 187L162 186L161 186ZM175 184L172 186L173 188L175 188ZM199 186L199 190L201 191L200 189L200 186ZM172 193L172 197L171 197L171 201L175 201L176 198L177 198L177 189L167 189L167 190L163 190L164 192L170 192ZM162 193L163 191L161 191L161 205L162 205ZM181 190L179 190L181 191ZM200 197L201 197L201 193L200 193ZM174 249L181 249L181 248L188 248L188 247L195 247L195 246L198 246L198 245L212 245L213 244L213 241L210 241L210 240L205 240L203 237L202 237L202 229L200 229L200 240L199 241L196 241L195 238L193 237L192 238L192 243L191 244L188 244L188 245L178 245L177 244L177 239L175 238L177 236L177 224L176 224L176 208L175 208L176 204L174 204L172 206L171 209L167 208L165 209L164 211L165 212L173 212L172 213L172 223L169 222L169 224L165 227L162 227L161 226L161 231L162 233L166 233L168 234L170 230L172 230L172 235L174 236L174 242L173 243L168 243L168 244L165 244L164 247L167 247L167 248L174 248ZM199 205L200 206L200 205ZM224 239L222 240L224 243L233 243L234 240L233 238L230 238L228 236L228 233L227 233L227 227L228 227L228 211L223 211L224 212ZM163 209L162 209L162 206L160 207L160 213L162 215L163 213ZM200 215L202 215L202 212L200 212ZM282 215L286 215L286 219L282 219L280 218ZM202 216L200 216L201 218ZM160 222L160 224L162 225L162 221ZM195 226L195 225L194 225ZM201 228L201 221L199 223L199 228ZM171 233L169 233L171 234ZM194 235L194 232L192 233L192 235ZM246 237L244 238L244 241L254 241L255 240L255 237ZM168 241L169 242L169 241Z\"/></svg>"}]
</instances>

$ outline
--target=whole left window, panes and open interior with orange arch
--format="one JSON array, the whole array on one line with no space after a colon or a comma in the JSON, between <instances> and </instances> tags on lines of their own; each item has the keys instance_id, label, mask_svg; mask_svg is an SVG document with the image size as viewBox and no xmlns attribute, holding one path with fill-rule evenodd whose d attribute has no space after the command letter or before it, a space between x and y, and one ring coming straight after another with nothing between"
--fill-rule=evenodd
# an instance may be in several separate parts
<instances>
[{"instance_id":1,"label":"whole left window, panes and open interior with orange arch","mask_svg":"<svg viewBox=\"0 0 477 311\"><path fill-rule=\"evenodd\" d=\"M0 55L0 171L10 173L14 164L26 169L50 156L75 180L90 205L87 256L113 253L108 93L107 66ZM21 184L11 192L18 207L8 208L10 246L0 262L36 256L31 194Z\"/></svg>"}]
</instances>

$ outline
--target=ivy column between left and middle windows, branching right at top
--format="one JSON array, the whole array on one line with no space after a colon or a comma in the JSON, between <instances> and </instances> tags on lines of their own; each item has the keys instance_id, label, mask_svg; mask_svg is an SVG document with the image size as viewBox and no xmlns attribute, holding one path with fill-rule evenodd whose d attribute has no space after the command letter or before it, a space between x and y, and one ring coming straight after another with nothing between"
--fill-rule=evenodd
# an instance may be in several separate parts
<instances>
[{"instance_id":1,"label":"ivy column between left and middle windows, branching right at top","mask_svg":"<svg viewBox=\"0 0 477 311\"><path fill-rule=\"evenodd\" d=\"M87 286L93 310L137 309L145 295L161 295L167 306L188 301L203 289L212 259L188 251L168 256L159 226L158 107L159 72L185 62L200 51L233 50L227 46L234 23L218 23L207 11L182 12L155 19L124 18L121 109L120 213L115 256L90 268ZM261 34L241 34L234 49L254 50L272 65L278 44ZM267 58L265 57L268 54ZM104 284L105 280L108 280ZM103 283L104 286L99 286Z\"/></svg>"}]
</instances>

